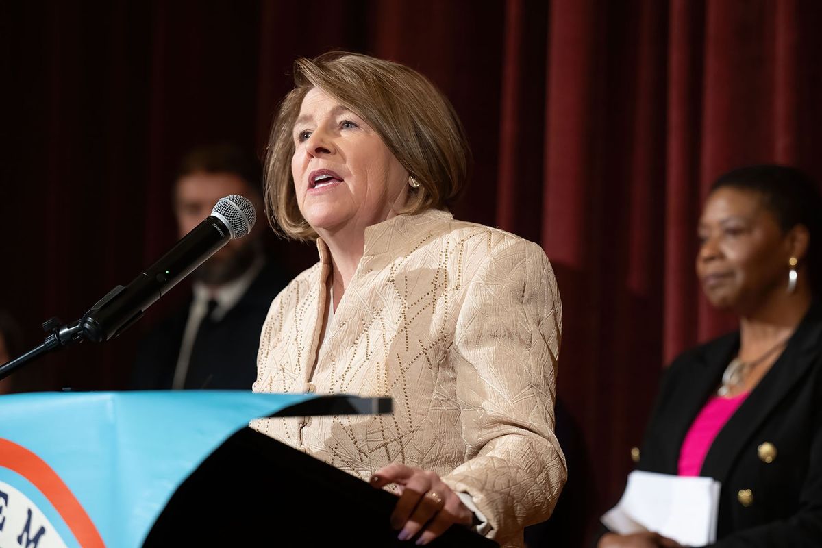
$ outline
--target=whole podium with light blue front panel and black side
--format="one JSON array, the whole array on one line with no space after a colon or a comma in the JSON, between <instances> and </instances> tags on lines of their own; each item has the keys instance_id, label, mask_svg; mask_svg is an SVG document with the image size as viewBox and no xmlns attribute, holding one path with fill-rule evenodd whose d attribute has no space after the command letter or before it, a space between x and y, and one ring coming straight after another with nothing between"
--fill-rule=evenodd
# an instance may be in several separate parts
<instances>
[{"instance_id":1,"label":"whole podium with light blue front panel and black side","mask_svg":"<svg viewBox=\"0 0 822 548\"><path fill-rule=\"evenodd\" d=\"M413 546L397 497L247 428L388 398L232 391L0 396L0 546ZM497 546L454 526L432 546Z\"/></svg>"}]
</instances>

